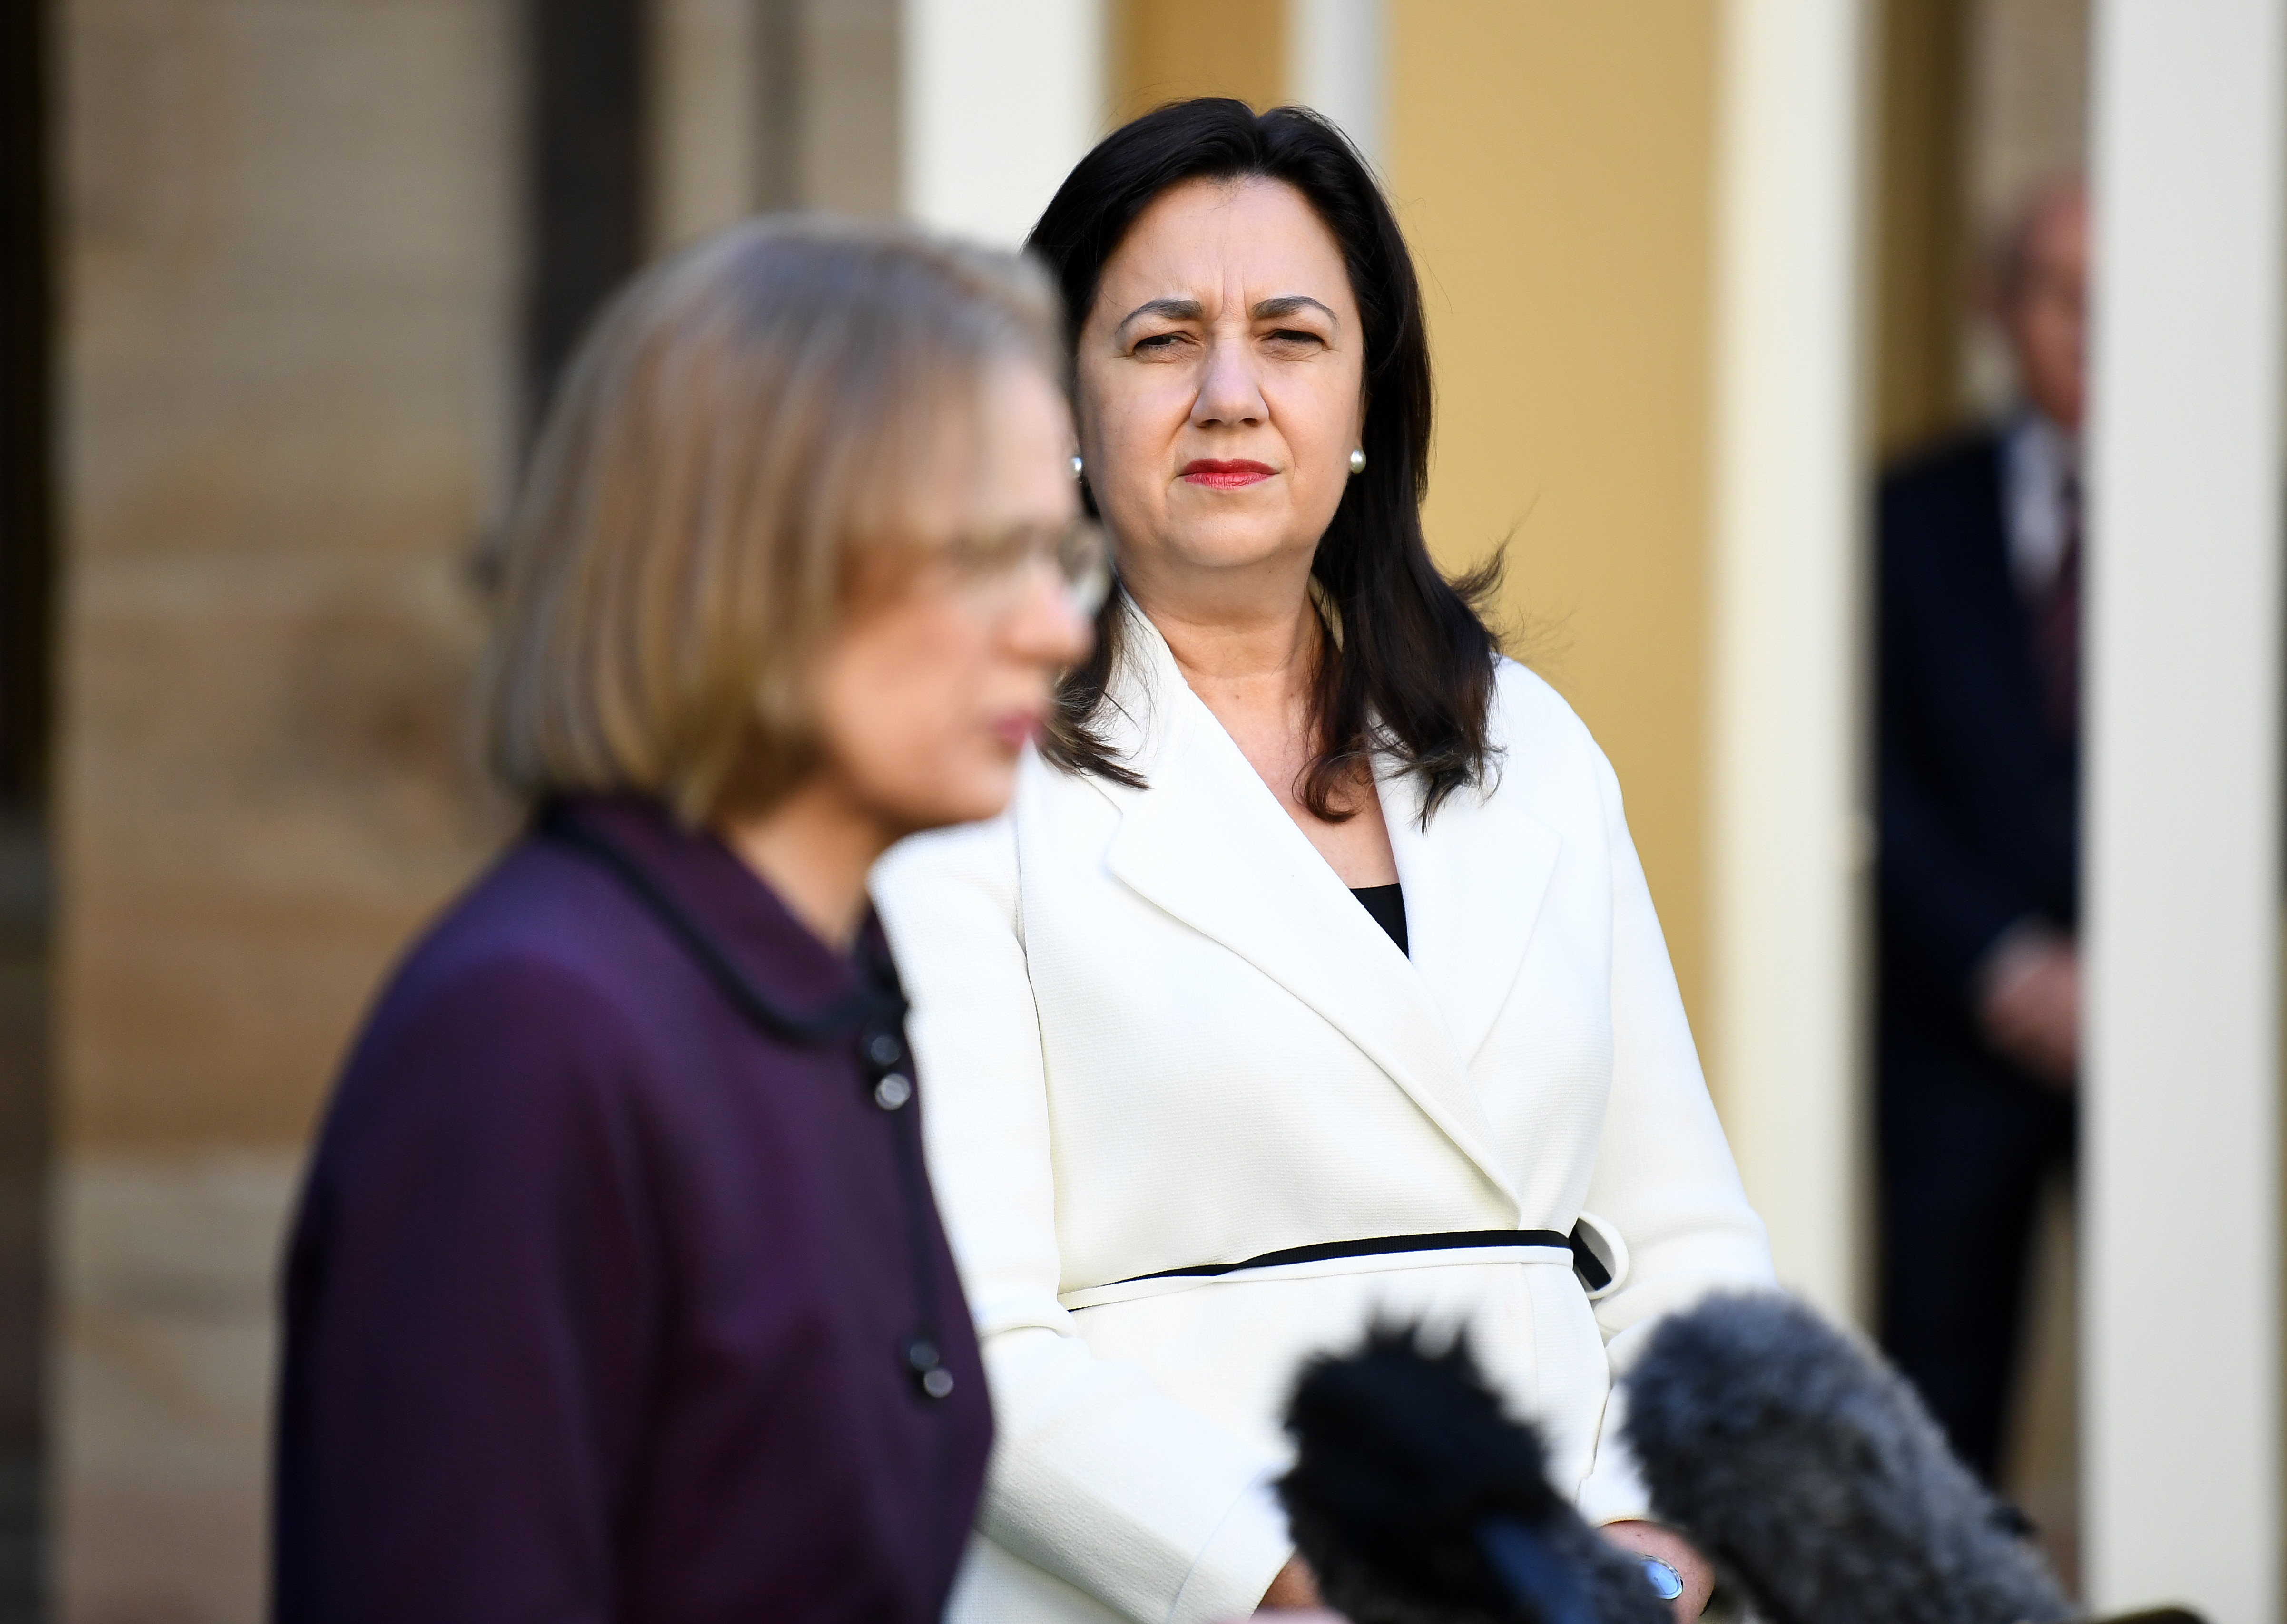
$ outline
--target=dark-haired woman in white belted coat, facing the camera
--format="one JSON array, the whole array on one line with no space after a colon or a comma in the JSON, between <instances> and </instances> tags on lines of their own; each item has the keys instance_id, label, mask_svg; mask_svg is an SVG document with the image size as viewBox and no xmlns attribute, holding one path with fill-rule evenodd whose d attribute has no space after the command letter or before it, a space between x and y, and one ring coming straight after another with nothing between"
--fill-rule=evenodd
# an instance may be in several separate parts
<instances>
[{"instance_id":1,"label":"dark-haired woman in white belted coat, facing the camera","mask_svg":"<svg viewBox=\"0 0 2287 1624\"><path fill-rule=\"evenodd\" d=\"M1031 247L1121 592L1011 812L876 874L999 1418L951 1617L1310 1603L1278 1411L1377 1313L1466 1324L1692 1615L1612 1370L1770 1256L1612 769L1423 544L1388 206L1310 114L1198 101Z\"/></svg>"}]
</instances>

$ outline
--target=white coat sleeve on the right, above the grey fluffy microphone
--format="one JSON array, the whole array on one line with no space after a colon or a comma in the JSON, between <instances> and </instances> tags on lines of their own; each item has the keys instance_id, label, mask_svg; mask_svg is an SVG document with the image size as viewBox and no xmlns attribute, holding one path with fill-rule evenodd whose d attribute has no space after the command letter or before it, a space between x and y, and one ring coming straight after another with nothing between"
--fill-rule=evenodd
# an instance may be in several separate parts
<instances>
[{"instance_id":1,"label":"white coat sleeve on the right, above the grey fluffy microphone","mask_svg":"<svg viewBox=\"0 0 2287 1624\"><path fill-rule=\"evenodd\" d=\"M1660 1315L1713 1290L1770 1288L1775 1279L1763 1219L1747 1205L1699 1073L1676 972L1621 814L1619 780L1603 753L1596 753L1596 787L1612 862L1612 1091L1585 1205L1628 1251L1626 1274L1596 1301L1617 1379ZM1615 1386L1596 1464L1578 1491L1580 1512L1594 1523L1651 1514L1619 1441L1621 1404Z\"/></svg>"}]
</instances>

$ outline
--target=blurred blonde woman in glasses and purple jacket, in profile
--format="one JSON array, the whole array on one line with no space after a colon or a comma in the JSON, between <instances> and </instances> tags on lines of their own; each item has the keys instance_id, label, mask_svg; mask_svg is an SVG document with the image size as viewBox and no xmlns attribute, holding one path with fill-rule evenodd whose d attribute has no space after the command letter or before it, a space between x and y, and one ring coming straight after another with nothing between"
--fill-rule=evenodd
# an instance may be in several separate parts
<instances>
[{"instance_id":1,"label":"blurred blonde woman in glasses and purple jacket, in profile","mask_svg":"<svg viewBox=\"0 0 2287 1624\"><path fill-rule=\"evenodd\" d=\"M1086 652L1054 295L897 229L640 277L519 496L533 821L414 947L293 1233L277 1617L942 1610L983 1478L874 858Z\"/></svg>"}]
</instances>

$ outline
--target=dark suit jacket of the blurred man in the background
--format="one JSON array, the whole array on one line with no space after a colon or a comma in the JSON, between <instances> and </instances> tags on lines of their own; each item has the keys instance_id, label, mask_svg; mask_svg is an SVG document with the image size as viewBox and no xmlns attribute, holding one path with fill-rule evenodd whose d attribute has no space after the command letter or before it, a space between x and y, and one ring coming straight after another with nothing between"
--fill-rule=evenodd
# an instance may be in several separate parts
<instances>
[{"instance_id":1,"label":"dark suit jacket of the blurred man in the background","mask_svg":"<svg viewBox=\"0 0 2287 1624\"><path fill-rule=\"evenodd\" d=\"M1878 540L1882 1048L2017 1077L1969 984L2013 922L2079 920L2079 748L2040 721L1999 437L1894 469Z\"/></svg>"}]
</instances>

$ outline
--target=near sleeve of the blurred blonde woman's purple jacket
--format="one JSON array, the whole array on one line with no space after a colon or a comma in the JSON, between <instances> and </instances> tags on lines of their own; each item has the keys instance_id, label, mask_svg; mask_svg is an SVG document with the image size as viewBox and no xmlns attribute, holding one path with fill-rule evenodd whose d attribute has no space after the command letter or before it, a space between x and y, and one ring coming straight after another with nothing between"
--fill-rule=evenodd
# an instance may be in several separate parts
<instances>
[{"instance_id":1,"label":"near sleeve of the blurred blonde woman's purple jacket","mask_svg":"<svg viewBox=\"0 0 2287 1624\"><path fill-rule=\"evenodd\" d=\"M533 965L391 997L286 1267L274 1617L617 1617L656 1290L606 1002Z\"/></svg>"}]
</instances>

